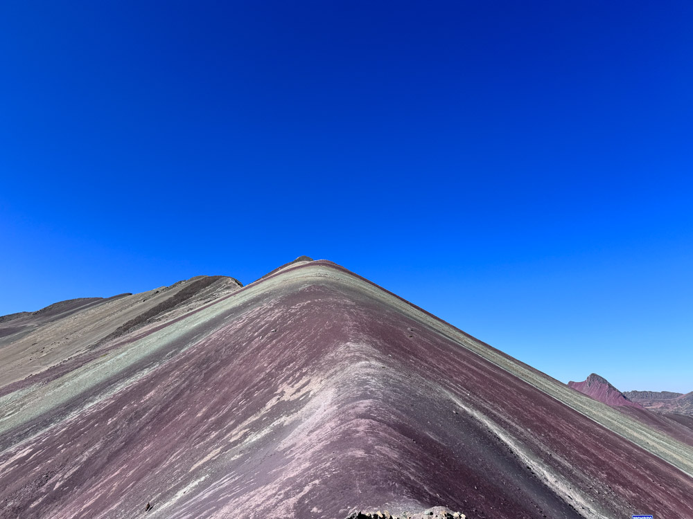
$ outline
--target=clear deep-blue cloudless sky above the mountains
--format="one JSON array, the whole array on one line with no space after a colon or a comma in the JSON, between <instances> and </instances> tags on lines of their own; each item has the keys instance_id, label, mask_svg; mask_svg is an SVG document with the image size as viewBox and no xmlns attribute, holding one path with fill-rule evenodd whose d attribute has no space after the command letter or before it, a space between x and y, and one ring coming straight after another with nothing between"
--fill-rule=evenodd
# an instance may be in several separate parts
<instances>
[{"instance_id":1,"label":"clear deep-blue cloudless sky above the mountains","mask_svg":"<svg viewBox=\"0 0 693 519\"><path fill-rule=\"evenodd\" d=\"M690 1L0 6L0 314L343 264L693 390Z\"/></svg>"}]
</instances>

